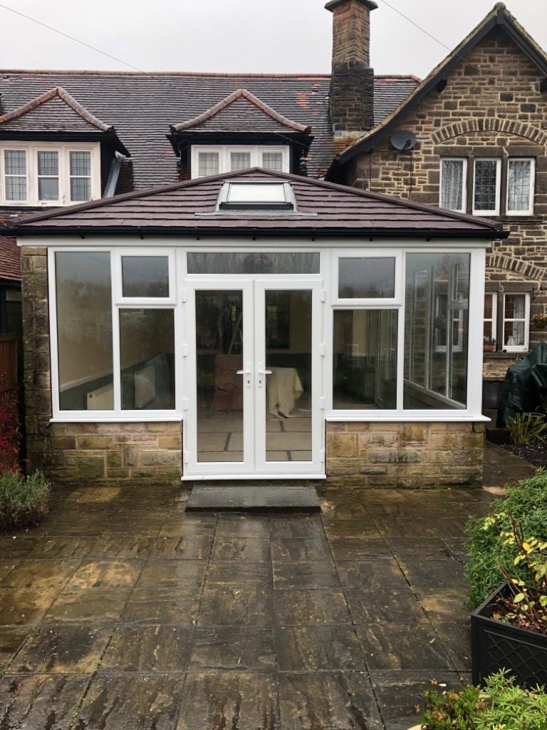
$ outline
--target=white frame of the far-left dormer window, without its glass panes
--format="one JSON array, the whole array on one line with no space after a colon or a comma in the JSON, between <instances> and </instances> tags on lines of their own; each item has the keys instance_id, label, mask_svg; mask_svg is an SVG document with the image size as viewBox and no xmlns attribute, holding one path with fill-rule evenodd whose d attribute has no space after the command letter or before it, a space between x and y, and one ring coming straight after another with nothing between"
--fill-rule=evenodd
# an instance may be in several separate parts
<instances>
[{"instance_id":1,"label":"white frame of the far-left dormer window, without its glass panes","mask_svg":"<svg viewBox=\"0 0 547 730\"><path fill-rule=\"evenodd\" d=\"M7 200L5 190L5 161L6 150L23 150L26 152L27 198L22 200ZM56 152L59 163L59 197L57 200L39 200L38 198L38 153ZM0 204L9 207L63 207L82 203L70 198L70 153L89 152L91 155L91 200L101 197L101 153L98 142L28 142L26 144L12 144L7 142L0 145L1 174L0 174ZM41 175L40 177L48 177ZM74 177L85 177L75 175Z\"/></svg>"}]
</instances>

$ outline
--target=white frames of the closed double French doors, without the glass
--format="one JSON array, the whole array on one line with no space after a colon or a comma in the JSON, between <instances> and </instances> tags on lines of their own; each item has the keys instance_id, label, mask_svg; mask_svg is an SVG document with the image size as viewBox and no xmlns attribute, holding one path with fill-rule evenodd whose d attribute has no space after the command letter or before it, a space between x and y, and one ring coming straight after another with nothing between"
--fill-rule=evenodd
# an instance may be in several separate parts
<instances>
[{"instance_id":1,"label":"white frames of the closed double French doors, without the glass","mask_svg":"<svg viewBox=\"0 0 547 730\"><path fill-rule=\"evenodd\" d=\"M187 400L183 422L183 481L249 480L249 479L325 479L325 398L322 357L322 280L319 277L218 277L186 278L185 302L185 382ZM265 461L266 391L259 385L259 366L265 360L265 292L311 291L311 409L312 461ZM243 383L243 448L244 461L198 461L197 351L195 323L196 291L241 291L243 294L243 364L249 371ZM259 354L262 358L259 358Z\"/></svg>"}]
</instances>

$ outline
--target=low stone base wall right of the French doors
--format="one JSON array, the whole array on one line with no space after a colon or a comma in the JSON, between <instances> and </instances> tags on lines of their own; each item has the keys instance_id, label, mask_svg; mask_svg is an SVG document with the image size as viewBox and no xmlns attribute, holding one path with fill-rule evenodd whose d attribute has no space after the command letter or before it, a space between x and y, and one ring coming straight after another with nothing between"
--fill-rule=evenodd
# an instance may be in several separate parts
<instances>
[{"instance_id":1,"label":"low stone base wall right of the French doors","mask_svg":"<svg viewBox=\"0 0 547 730\"><path fill-rule=\"evenodd\" d=\"M354 487L481 485L483 423L327 423L327 481Z\"/></svg>"}]
</instances>

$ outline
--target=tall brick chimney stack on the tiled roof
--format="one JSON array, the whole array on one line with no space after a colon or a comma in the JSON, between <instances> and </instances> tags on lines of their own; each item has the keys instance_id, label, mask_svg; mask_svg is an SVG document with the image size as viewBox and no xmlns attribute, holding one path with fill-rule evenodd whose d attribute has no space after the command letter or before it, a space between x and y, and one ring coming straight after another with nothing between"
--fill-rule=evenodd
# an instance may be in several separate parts
<instances>
[{"instance_id":1,"label":"tall brick chimney stack on the tiled roof","mask_svg":"<svg viewBox=\"0 0 547 730\"><path fill-rule=\"evenodd\" d=\"M359 137L374 126L371 69L373 0L330 0L333 13L333 72L330 117L336 137Z\"/></svg>"}]
</instances>

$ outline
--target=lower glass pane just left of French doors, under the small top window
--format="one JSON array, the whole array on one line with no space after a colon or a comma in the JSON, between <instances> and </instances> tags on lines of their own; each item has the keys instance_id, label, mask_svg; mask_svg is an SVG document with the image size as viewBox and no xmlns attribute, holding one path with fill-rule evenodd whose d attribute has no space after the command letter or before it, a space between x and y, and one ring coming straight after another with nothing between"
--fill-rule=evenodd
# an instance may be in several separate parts
<instances>
[{"instance_id":1,"label":"lower glass pane just left of French doors, under the small top window","mask_svg":"<svg viewBox=\"0 0 547 730\"><path fill-rule=\"evenodd\" d=\"M120 310L123 410L174 410L173 310Z\"/></svg>"}]
</instances>

